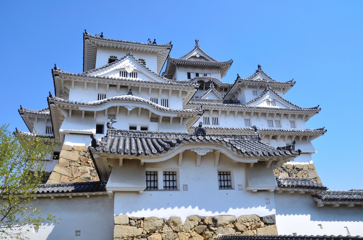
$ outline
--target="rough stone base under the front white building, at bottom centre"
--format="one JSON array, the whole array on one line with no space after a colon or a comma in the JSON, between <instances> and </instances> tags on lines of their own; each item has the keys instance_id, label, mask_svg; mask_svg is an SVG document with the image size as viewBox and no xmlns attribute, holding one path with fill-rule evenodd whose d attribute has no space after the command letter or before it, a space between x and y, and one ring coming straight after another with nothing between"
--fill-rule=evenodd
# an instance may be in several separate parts
<instances>
[{"instance_id":1,"label":"rough stone base under the front white building, at bottom centre","mask_svg":"<svg viewBox=\"0 0 363 240\"><path fill-rule=\"evenodd\" d=\"M179 217L168 220L158 217L114 217L114 239L124 240L207 240L219 234L277 235L275 215L187 217L184 224Z\"/></svg>"}]
</instances>

